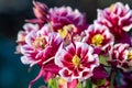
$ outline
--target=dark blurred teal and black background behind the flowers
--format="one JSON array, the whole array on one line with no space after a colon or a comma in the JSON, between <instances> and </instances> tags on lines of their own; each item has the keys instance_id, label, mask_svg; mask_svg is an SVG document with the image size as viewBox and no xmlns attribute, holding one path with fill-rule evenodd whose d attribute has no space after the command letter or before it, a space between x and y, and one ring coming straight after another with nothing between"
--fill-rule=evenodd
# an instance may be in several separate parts
<instances>
[{"instance_id":1,"label":"dark blurred teal and black background behind the flowers","mask_svg":"<svg viewBox=\"0 0 132 88\"><path fill-rule=\"evenodd\" d=\"M103 9L111 3L121 1L132 8L132 0L36 0L51 7L70 6L80 12L86 12L87 22L90 24L97 16L97 9ZM25 19L33 19L32 0L0 0L0 88L28 88L38 73L33 67L29 73L29 66L21 63L20 56L14 54L18 32L22 30ZM43 85L40 79L33 88Z\"/></svg>"}]
</instances>

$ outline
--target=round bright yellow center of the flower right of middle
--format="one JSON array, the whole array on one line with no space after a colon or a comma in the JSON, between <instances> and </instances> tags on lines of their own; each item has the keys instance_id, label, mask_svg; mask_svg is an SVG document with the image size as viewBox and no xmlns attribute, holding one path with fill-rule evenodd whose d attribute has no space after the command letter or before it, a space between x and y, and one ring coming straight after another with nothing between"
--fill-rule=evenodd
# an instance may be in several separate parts
<instances>
[{"instance_id":1,"label":"round bright yellow center of the flower right of middle","mask_svg":"<svg viewBox=\"0 0 132 88\"><path fill-rule=\"evenodd\" d=\"M96 45L96 46L101 46L101 43L103 42L103 40L105 40L103 35L101 35L101 34L96 34L96 35L92 37L91 42L92 42L92 44Z\"/></svg>"}]
</instances>

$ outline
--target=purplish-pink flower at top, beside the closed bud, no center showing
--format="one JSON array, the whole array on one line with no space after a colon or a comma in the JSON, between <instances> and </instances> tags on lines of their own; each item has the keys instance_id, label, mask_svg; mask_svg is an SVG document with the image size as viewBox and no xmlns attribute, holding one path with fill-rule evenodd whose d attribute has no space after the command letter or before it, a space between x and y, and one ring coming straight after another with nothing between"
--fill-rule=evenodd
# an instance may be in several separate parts
<instances>
[{"instance_id":1,"label":"purplish-pink flower at top, beside the closed bud, no center showing","mask_svg":"<svg viewBox=\"0 0 132 88\"><path fill-rule=\"evenodd\" d=\"M72 10L70 7L52 8L48 18L54 31L63 30L64 26L68 25L69 30L74 30L74 33L80 33L87 28L86 16L77 9Z\"/></svg>"}]
</instances>

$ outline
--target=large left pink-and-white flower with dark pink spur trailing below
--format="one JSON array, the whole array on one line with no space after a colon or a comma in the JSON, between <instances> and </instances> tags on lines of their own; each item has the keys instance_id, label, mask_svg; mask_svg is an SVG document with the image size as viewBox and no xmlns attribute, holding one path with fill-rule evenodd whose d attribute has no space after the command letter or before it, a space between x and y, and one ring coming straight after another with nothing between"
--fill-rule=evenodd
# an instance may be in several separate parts
<instances>
[{"instance_id":1,"label":"large left pink-and-white flower with dark pink spur trailing below","mask_svg":"<svg viewBox=\"0 0 132 88\"><path fill-rule=\"evenodd\" d=\"M56 54L63 38L56 32L51 33L48 24L45 24L38 31L32 31L25 36L25 44L21 46L23 64L37 64L41 67L40 74L30 82L29 88L40 78L44 77L47 81L54 77L59 67L54 64L54 55Z\"/></svg>"}]
</instances>

